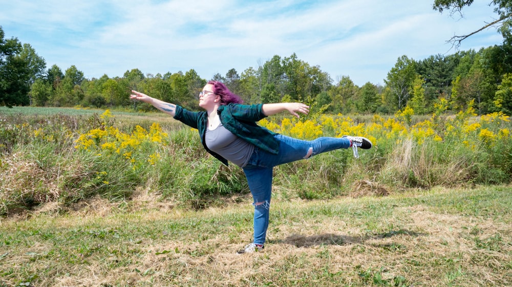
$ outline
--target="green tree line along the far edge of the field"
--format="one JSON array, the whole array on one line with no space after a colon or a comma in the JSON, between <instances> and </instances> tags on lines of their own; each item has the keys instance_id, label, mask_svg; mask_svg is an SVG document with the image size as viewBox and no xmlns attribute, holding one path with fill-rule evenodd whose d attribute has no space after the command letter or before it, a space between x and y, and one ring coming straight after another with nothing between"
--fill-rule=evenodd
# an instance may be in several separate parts
<instances>
[{"instance_id":1,"label":"green tree line along the far edge of the field","mask_svg":"<svg viewBox=\"0 0 512 287\"><path fill-rule=\"evenodd\" d=\"M480 114L512 111L512 46L507 41L479 51L458 51L414 60L397 58L384 85L367 82L361 87L349 76L334 81L317 65L289 57L273 56L241 74L230 69L211 80L224 82L246 103L300 101L328 113L394 113L410 107L416 114L432 112L445 99L453 111L473 101ZM163 101L197 109L198 94L207 80L194 69L183 73L144 74L138 68L122 77L87 79L71 65L62 71L46 68L44 58L30 44L5 39L0 26L0 105L56 107L152 107L131 102L136 89Z\"/></svg>"}]
</instances>

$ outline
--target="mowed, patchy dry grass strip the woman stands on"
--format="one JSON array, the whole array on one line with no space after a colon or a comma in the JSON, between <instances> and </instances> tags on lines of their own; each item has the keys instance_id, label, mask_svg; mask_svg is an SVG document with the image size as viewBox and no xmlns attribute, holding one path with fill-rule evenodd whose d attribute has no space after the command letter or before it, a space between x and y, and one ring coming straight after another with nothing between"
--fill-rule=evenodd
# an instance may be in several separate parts
<instances>
[{"instance_id":1,"label":"mowed, patchy dry grass strip the woman stands on","mask_svg":"<svg viewBox=\"0 0 512 287\"><path fill-rule=\"evenodd\" d=\"M48 204L0 224L0 286L510 286L511 186L274 200L264 252L250 198L183 210Z\"/></svg>"}]
</instances>

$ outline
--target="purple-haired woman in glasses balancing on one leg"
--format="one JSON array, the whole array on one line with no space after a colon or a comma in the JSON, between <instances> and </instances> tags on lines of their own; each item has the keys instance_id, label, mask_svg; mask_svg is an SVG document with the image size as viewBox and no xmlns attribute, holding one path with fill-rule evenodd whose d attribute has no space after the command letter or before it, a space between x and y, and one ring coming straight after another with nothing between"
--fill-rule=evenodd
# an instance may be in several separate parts
<instances>
[{"instance_id":1,"label":"purple-haired woman in glasses balancing on one leg","mask_svg":"<svg viewBox=\"0 0 512 287\"><path fill-rule=\"evenodd\" d=\"M198 129L201 143L208 153L226 165L231 161L243 169L253 197L254 240L238 251L239 254L264 248L274 166L350 147L357 157L357 147L372 147L370 140L364 137L319 137L307 141L274 133L256 122L282 111L299 117L298 113L309 112L309 106L302 103L242 105L242 99L218 81L209 81L199 93L199 106L205 110L201 112L191 112L179 105L132 92L131 99L149 103Z\"/></svg>"}]
</instances>

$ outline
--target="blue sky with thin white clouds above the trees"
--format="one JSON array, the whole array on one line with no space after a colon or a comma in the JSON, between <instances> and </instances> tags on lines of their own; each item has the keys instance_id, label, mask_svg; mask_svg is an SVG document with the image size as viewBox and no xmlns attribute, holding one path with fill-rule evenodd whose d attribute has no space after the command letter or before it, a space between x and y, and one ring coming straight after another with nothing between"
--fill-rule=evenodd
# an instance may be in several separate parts
<instances>
[{"instance_id":1,"label":"blue sky with thin white clouds above the trees","mask_svg":"<svg viewBox=\"0 0 512 287\"><path fill-rule=\"evenodd\" d=\"M490 1L476 0L459 14L432 9L434 0L0 0L5 38L28 43L64 72L75 65L88 79L185 73L206 80L241 75L274 55L293 53L337 83L384 84L397 59L456 53L454 35L492 22ZM459 50L499 45L489 28Z\"/></svg>"}]
</instances>

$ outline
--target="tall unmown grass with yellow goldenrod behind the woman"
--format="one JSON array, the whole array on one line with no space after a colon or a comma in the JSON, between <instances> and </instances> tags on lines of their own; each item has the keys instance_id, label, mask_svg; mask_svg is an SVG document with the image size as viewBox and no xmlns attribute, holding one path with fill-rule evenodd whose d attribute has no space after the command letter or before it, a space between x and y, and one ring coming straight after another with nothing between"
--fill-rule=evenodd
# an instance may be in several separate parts
<instances>
[{"instance_id":1,"label":"tall unmown grass with yellow goldenrod behind the woman","mask_svg":"<svg viewBox=\"0 0 512 287\"><path fill-rule=\"evenodd\" d=\"M261 125L297 138L366 136L374 148L338 150L274 170L274 196L328 199L401 188L508 183L508 116L454 116L404 110L395 116L270 117ZM0 114L0 214L40 203L62 206L95 195L129 199L137 188L163 200L204 208L248 193L241 169L223 166L197 130L170 117L126 113Z\"/></svg>"}]
</instances>

